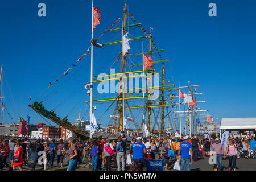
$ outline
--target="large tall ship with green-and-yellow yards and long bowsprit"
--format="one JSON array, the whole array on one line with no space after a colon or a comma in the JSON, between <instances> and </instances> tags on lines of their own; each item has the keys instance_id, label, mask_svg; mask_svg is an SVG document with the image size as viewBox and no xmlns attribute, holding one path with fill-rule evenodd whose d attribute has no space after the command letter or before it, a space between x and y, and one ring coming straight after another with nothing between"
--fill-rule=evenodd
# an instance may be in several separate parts
<instances>
[{"instance_id":1,"label":"large tall ship with green-and-yellow yards and long bowsprit","mask_svg":"<svg viewBox=\"0 0 256 182\"><path fill-rule=\"evenodd\" d=\"M135 134L159 137L180 133L181 111L177 110L184 103L174 102L178 97L174 93L180 87L170 80L170 60L163 48L156 47L154 28L144 28L125 2L122 15L95 38L94 28L100 24L100 11L92 3L92 39L88 53L84 54L91 56L90 80L81 85L90 97L84 100L88 106L86 118L92 125L95 113L97 123L102 126L96 127L93 137L116 138L122 130L130 136L129 139ZM82 56L77 61L81 61ZM96 64L97 59L102 61ZM102 69L102 72L93 73L93 67ZM71 68L63 75L67 75ZM53 84L57 82L56 78ZM51 91L53 84L50 82L46 92ZM60 118L54 109L45 109L43 101L35 101L29 106L41 117L71 131L74 137L92 138L89 131L72 125L68 114ZM195 113L197 108L192 107ZM192 121L196 123L196 115L189 119ZM190 131L197 133L197 125L193 125Z\"/></svg>"}]
</instances>

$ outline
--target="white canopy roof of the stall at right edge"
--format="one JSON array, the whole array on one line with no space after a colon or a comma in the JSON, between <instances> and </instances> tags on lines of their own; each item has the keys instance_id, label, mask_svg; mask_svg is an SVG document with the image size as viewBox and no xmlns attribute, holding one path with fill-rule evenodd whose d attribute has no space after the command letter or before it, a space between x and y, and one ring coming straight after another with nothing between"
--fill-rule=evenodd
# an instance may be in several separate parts
<instances>
[{"instance_id":1,"label":"white canopy roof of the stall at right edge","mask_svg":"<svg viewBox=\"0 0 256 182\"><path fill-rule=\"evenodd\" d=\"M256 129L256 118L221 118L220 129Z\"/></svg>"}]
</instances>

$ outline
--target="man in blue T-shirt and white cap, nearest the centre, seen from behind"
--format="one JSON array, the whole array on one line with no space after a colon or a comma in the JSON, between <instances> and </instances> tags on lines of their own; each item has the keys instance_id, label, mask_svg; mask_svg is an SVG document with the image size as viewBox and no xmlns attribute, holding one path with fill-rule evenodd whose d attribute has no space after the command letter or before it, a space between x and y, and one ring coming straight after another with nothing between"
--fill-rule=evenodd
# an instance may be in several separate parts
<instances>
[{"instance_id":1,"label":"man in blue T-shirt and white cap, nearest the centre, seen from behind","mask_svg":"<svg viewBox=\"0 0 256 182\"><path fill-rule=\"evenodd\" d=\"M137 137L136 140L137 142L131 146L129 152L130 154L133 152L134 163L141 163L143 166L143 171L146 171L146 159L144 157L144 154L146 154L147 152L146 146L143 143L141 143L141 137Z\"/></svg>"}]
</instances>

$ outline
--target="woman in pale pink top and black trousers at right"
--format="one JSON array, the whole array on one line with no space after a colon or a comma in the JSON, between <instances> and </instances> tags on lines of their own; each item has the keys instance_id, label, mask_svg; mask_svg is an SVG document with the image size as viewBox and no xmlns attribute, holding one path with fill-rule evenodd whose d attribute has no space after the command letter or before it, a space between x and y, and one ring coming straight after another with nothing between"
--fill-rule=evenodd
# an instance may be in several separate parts
<instances>
[{"instance_id":1,"label":"woman in pale pink top and black trousers at right","mask_svg":"<svg viewBox=\"0 0 256 182\"><path fill-rule=\"evenodd\" d=\"M226 155L228 155L229 159L229 171L231 171L231 165L233 163L233 171L236 171L236 160L238 158L238 150L236 145L234 144L234 139L229 140L228 147L226 147Z\"/></svg>"}]
</instances>

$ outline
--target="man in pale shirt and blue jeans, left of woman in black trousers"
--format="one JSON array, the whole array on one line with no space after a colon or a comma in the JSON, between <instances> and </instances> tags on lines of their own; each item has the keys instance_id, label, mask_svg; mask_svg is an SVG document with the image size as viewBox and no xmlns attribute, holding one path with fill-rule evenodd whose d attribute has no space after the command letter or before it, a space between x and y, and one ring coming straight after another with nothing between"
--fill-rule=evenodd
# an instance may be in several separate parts
<instances>
[{"instance_id":1,"label":"man in pale shirt and blue jeans, left of woman in black trousers","mask_svg":"<svg viewBox=\"0 0 256 182\"><path fill-rule=\"evenodd\" d=\"M214 171L221 171L222 170L222 155L224 155L224 148L223 145L220 143L218 138L215 139L215 143L212 144L210 147L211 151L214 151L216 153L213 155L213 162L214 162ZM225 158L225 156L224 156ZM218 168L217 168L217 161L218 161Z\"/></svg>"}]
</instances>

